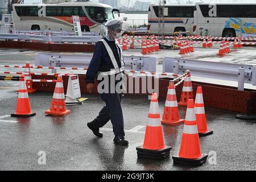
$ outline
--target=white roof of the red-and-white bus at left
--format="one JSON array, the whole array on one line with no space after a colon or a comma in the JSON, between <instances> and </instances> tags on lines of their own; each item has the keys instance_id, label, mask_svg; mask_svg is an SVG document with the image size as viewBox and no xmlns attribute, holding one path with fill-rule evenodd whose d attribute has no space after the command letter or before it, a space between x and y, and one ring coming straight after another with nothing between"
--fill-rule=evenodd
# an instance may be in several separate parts
<instances>
[{"instance_id":1,"label":"white roof of the red-and-white bus at left","mask_svg":"<svg viewBox=\"0 0 256 182\"><path fill-rule=\"evenodd\" d=\"M42 6L42 3L39 4L14 4L14 6ZM102 3L93 3L93 2L63 2L59 4L46 4L46 6L98 6L98 7L110 7L112 6L105 5Z\"/></svg>"}]
</instances>

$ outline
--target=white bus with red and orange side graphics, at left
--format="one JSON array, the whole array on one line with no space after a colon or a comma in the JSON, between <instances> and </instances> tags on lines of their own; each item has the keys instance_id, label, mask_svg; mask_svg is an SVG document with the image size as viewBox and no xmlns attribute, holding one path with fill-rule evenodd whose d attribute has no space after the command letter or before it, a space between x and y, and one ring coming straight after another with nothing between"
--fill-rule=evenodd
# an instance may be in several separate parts
<instances>
[{"instance_id":1,"label":"white bus with red and orange side graphics, at left","mask_svg":"<svg viewBox=\"0 0 256 182\"><path fill-rule=\"evenodd\" d=\"M73 31L72 15L80 17L82 31L100 31L100 25L114 19L112 6L91 2L13 5L16 30Z\"/></svg>"}]
</instances>

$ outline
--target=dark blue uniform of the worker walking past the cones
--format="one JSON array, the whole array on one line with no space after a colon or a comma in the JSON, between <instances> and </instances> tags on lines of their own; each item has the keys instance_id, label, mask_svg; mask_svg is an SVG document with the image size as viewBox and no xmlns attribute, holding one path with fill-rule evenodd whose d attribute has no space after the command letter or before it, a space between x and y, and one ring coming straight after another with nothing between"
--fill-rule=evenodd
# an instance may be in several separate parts
<instances>
[{"instance_id":1,"label":"dark blue uniform of the worker walking past the cones","mask_svg":"<svg viewBox=\"0 0 256 182\"><path fill-rule=\"evenodd\" d=\"M117 61L118 67L121 67L121 50L117 48L115 42L104 39L109 44L112 49L115 60ZM109 57L109 54L104 46L104 43L97 42L92 60L90 61L88 71L86 72L85 82L92 82L97 76L97 73L108 72L113 69L114 65ZM109 76L110 78L110 76ZM115 84L120 80L116 80ZM100 80L98 80L100 82ZM120 93L101 93L101 99L106 102L98 116L93 120L93 125L96 127L103 127L109 120L111 120L113 125L113 132L115 137L123 139L125 137L125 131L123 130L123 113L121 107L121 97Z\"/></svg>"}]
</instances>

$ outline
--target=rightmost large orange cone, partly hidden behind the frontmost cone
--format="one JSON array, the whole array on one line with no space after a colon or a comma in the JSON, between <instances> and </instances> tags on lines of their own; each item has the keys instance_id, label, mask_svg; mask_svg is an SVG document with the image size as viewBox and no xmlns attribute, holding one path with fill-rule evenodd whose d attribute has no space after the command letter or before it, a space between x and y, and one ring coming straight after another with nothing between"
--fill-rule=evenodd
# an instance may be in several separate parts
<instances>
[{"instance_id":1,"label":"rightmost large orange cone, partly hidden behind the frontmost cone","mask_svg":"<svg viewBox=\"0 0 256 182\"><path fill-rule=\"evenodd\" d=\"M195 100L195 111L196 111L196 123L200 137L204 137L213 134L212 130L207 129L207 121L204 111L204 98L203 90L201 86L197 86L196 100Z\"/></svg>"}]
</instances>

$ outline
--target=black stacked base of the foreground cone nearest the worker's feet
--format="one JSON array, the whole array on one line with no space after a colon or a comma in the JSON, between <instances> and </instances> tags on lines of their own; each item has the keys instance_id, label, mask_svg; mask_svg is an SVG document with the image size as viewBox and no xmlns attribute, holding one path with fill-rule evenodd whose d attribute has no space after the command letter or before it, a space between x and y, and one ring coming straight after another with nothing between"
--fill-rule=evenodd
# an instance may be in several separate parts
<instances>
[{"instance_id":1,"label":"black stacked base of the foreground cone nearest the worker's feet","mask_svg":"<svg viewBox=\"0 0 256 182\"><path fill-rule=\"evenodd\" d=\"M144 159L166 159L170 156L170 150L172 147L166 146L161 150L148 150L142 148L142 146L136 147L138 158Z\"/></svg>"}]
</instances>

